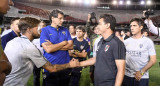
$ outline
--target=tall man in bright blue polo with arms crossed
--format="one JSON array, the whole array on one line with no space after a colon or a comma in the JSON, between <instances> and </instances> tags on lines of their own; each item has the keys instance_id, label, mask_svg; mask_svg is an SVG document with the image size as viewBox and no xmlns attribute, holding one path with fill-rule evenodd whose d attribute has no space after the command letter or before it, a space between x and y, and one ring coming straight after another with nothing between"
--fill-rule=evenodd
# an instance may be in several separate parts
<instances>
[{"instance_id":1,"label":"tall man in bright blue polo with arms crossed","mask_svg":"<svg viewBox=\"0 0 160 86\"><path fill-rule=\"evenodd\" d=\"M68 50L73 49L73 41L67 28L62 26L64 13L53 10L50 14L51 25L42 28L40 44L44 57L52 64L65 64L70 60ZM70 69L56 73L44 70L44 86L68 86Z\"/></svg>"}]
</instances>

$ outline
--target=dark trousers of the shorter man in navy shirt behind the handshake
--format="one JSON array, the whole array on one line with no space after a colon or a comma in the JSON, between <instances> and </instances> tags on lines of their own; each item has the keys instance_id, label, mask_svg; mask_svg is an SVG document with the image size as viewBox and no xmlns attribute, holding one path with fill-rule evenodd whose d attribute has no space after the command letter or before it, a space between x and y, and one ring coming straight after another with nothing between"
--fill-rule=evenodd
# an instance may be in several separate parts
<instances>
[{"instance_id":1,"label":"dark trousers of the shorter man in navy shirt behind the handshake","mask_svg":"<svg viewBox=\"0 0 160 86\"><path fill-rule=\"evenodd\" d=\"M79 80L81 78L82 68L73 68L70 79L70 86L79 86Z\"/></svg>"}]
</instances>

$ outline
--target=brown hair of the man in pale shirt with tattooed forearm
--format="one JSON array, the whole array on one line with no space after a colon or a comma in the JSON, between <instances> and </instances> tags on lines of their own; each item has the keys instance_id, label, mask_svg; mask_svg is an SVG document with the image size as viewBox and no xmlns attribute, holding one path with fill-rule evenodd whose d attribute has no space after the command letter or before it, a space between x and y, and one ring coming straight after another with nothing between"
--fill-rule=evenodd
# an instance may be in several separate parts
<instances>
[{"instance_id":1,"label":"brown hair of the man in pale shirt with tattooed forearm","mask_svg":"<svg viewBox=\"0 0 160 86\"><path fill-rule=\"evenodd\" d=\"M18 24L18 28L22 34L26 33L28 28L34 28L38 26L40 20L32 17L21 18Z\"/></svg>"}]
</instances>

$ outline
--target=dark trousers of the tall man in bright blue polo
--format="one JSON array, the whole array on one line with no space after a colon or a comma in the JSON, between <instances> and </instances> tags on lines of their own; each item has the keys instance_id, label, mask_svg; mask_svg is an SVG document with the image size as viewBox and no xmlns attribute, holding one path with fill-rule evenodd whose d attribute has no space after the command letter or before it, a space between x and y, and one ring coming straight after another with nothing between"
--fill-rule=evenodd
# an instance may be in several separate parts
<instances>
[{"instance_id":1,"label":"dark trousers of the tall man in bright blue polo","mask_svg":"<svg viewBox=\"0 0 160 86\"><path fill-rule=\"evenodd\" d=\"M43 86L69 86L71 69L59 72L45 72L43 75Z\"/></svg>"}]
</instances>

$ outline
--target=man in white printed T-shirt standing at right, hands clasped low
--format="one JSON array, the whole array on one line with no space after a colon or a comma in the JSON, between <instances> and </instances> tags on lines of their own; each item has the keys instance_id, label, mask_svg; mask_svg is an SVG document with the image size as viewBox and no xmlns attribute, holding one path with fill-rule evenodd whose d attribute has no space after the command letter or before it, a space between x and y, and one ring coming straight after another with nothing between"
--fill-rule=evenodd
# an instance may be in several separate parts
<instances>
[{"instance_id":1,"label":"man in white printed T-shirt standing at right, hands clasped low","mask_svg":"<svg viewBox=\"0 0 160 86\"><path fill-rule=\"evenodd\" d=\"M148 70L156 63L156 52L151 39L142 35L144 22L130 21L132 37L126 39L126 68L122 86L149 86Z\"/></svg>"}]
</instances>

